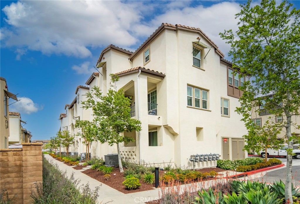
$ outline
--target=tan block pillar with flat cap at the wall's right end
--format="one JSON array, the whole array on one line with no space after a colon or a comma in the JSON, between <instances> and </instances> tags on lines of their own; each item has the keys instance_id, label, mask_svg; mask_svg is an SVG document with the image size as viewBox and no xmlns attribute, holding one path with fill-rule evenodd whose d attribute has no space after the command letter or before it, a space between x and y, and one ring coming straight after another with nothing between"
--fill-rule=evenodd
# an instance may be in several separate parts
<instances>
[{"instance_id":1,"label":"tan block pillar with flat cap at the wall's right end","mask_svg":"<svg viewBox=\"0 0 300 204\"><path fill-rule=\"evenodd\" d=\"M43 143L22 143L23 149L23 200L24 204L32 203L32 191L35 184L43 182Z\"/></svg>"}]
</instances>

